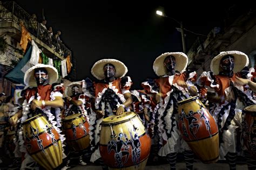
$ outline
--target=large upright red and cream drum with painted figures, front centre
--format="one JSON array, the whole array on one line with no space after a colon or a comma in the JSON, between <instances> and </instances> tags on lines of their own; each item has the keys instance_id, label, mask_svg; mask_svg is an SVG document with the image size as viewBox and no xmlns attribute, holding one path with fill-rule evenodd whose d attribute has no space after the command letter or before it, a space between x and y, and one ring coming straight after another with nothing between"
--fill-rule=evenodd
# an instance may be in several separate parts
<instances>
[{"instance_id":1,"label":"large upright red and cream drum with painted figures, front centre","mask_svg":"<svg viewBox=\"0 0 256 170\"><path fill-rule=\"evenodd\" d=\"M151 139L134 112L110 116L100 124L99 151L112 169L145 169Z\"/></svg>"}]
</instances>

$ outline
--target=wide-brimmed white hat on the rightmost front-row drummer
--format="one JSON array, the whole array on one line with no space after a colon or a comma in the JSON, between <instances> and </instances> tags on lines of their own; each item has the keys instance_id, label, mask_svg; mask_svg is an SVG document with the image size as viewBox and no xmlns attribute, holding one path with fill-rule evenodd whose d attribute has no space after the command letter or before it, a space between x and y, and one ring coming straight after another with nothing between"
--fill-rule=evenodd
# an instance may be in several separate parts
<instances>
[{"instance_id":1,"label":"wide-brimmed white hat on the rightmost front-row drummer","mask_svg":"<svg viewBox=\"0 0 256 170\"><path fill-rule=\"evenodd\" d=\"M234 56L234 68L233 68L234 73L240 72L245 66L248 66L249 64L248 56L245 53L242 53L240 51L220 52L220 54L215 56L211 61L211 72L213 72L214 75L219 74L220 60L226 55Z\"/></svg>"}]
</instances>

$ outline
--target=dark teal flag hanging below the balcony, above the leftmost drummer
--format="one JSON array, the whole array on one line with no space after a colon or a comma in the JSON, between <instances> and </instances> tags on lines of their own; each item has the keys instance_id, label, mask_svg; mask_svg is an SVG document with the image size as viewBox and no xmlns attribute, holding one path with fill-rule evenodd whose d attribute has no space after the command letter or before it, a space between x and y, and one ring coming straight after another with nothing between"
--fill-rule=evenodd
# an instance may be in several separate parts
<instances>
[{"instance_id":1,"label":"dark teal flag hanging below the balcony, above the leftmost drummer","mask_svg":"<svg viewBox=\"0 0 256 170\"><path fill-rule=\"evenodd\" d=\"M5 74L4 78L15 83L24 84L24 75L32 65L29 63L32 53L32 46L29 47L22 60L9 73Z\"/></svg>"}]
</instances>

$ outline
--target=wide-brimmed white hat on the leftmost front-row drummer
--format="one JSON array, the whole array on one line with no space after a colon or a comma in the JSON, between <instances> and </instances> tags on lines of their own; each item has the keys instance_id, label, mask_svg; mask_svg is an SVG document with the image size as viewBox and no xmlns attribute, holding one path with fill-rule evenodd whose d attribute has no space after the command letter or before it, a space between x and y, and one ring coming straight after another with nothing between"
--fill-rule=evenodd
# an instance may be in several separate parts
<instances>
[{"instance_id":1,"label":"wide-brimmed white hat on the leftmost front-row drummer","mask_svg":"<svg viewBox=\"0 0 256 170\"><path fill-rule=\"evenodd\" d=\"M29 87L37 87L36 79L34 76L36 68L45 68L48 72L48 83L52 84L58 81L58 71L51 65L43 65L41 63L28 69L24 75L24 83Z\"/></svg>"}]
</instances>

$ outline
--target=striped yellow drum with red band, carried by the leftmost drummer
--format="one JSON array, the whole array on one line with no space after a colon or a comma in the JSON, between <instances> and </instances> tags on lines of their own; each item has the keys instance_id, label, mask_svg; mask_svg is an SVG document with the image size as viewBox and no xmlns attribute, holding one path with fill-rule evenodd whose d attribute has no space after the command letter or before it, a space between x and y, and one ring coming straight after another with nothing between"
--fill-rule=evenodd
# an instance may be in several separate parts
<instances>
[{"instance_id":1,"label":"striped yellow drum with red band, carried by the leftmost drummer","mask_svg":"<svg viewBox=\"0 0 256 170\"><path fill-rule=\"evenodd\" d=\"M23 123L26 150L45 169L62 164L62 142L56 129L39 114Z\"/></svg>"}]
</instances>

